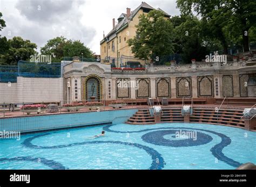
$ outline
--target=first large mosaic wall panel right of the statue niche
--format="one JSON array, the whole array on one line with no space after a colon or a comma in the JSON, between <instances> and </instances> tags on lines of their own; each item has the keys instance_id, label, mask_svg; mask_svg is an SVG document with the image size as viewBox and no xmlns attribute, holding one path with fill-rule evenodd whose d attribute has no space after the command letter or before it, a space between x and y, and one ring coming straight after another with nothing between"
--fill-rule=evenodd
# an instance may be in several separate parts
<instances>
[{"instance_id":1,"label":"first large mosaic wall panel right of the statue niche","mask_svg":"<svg viewBox=\"0 0 256 187\"><path fill-rule=\"evenodd\" d=\"M117 78L116 90L117 98L130 98L130 78Z\"/></svg>"}]
</instances>

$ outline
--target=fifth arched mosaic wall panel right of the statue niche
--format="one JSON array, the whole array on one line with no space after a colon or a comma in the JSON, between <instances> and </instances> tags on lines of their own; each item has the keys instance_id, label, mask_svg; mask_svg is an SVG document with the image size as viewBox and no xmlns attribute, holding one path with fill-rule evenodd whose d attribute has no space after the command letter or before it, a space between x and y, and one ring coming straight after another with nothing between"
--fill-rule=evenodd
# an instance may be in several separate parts
<instances>
[{"instance_id":1,"label":"fifth arched mosaic wall panel right of the statue niche","mask_svg":"<svg viewBox=\"0 0 256 187\"><path fill-rule=\"evenodd\" d=\"M213 77L198 76L198 97L213 97Z\"/></svg>"}]
</instances>

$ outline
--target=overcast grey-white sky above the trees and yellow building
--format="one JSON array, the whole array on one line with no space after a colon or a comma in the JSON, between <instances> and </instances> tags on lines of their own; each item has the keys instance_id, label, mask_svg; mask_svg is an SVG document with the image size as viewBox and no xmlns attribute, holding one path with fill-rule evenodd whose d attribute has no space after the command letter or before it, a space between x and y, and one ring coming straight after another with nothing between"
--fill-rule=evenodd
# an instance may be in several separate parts
<instances>
[{"instance_id":1,"label":"overcast grey-white sky above the trees and yellow building","mask_svg":"<svg viewBox=\"0 0 256 187\"><path fill-rule=\"evenodd\" d=\"M179 15L176 0L145 1L153 8L160 8L171 16ZM68 39L84 42L100 54L103 31L112 29L112 19L137 8L137 0L0 0L6 27L1 35L7 38L21 36L37 44L37 51L49 39L63 35Z\"/></svg>"}]
</instances>

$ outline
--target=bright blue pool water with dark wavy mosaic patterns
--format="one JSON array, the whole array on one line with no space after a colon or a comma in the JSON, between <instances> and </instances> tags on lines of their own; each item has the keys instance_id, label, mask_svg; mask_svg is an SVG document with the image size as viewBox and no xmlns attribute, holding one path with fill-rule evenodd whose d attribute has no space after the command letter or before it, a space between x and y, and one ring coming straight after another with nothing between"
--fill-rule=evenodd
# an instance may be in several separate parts
<instances>
[{"instance_id":1,"label":"bright blue pool water with dark wavy mosaic patterns","mask_svg":"<svg viewBox=\"0 0 256 187\"><path fill-rule=\"evenodd\" d=\"M90 139L103 130L105 136ZM99 125L0 143L0 169L235 169L256 163L255 132L205 124Z\"/></svg>"}]
</instances>

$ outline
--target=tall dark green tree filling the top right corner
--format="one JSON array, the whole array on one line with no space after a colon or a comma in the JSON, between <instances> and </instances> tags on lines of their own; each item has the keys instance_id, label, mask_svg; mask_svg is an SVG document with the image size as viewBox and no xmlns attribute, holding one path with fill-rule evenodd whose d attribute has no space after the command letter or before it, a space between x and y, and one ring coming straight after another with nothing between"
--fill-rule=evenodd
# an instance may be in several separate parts
<instances>
[{"instance_id":1,"label":"tall dark green tree filling the top right corner","mask_svg":"<svg viewBox=\"0 0 256 187\"><path fill-rule=\"evenodd\" d=\"M256 23L256 2L251 0L177 0L181 13L196 11L208 28L208 35L221 41L224 53L228 44L242 37L244 51L249 51L249 30ZM231 35L232 34L232 35Z\"/></svg>"}]
</instances>

